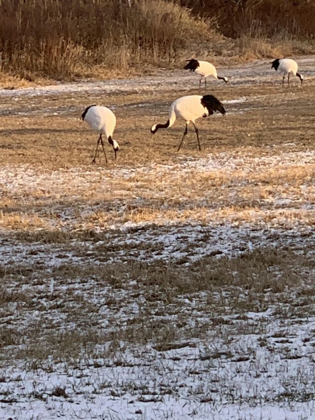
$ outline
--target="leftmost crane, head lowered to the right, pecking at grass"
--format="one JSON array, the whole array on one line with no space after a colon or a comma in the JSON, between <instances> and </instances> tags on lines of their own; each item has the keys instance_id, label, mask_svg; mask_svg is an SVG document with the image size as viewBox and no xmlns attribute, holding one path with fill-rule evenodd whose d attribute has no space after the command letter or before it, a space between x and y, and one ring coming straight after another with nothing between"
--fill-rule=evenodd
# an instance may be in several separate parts
<instances>
[{"instance_id":1,"label":"leftmost crane, head lowered to the right, pecking at grass","mask_svg":"<svg viewBox=\"0 0 315 420\"><path fill-rule=\"evenodd\" d=\"M99 144L101 144L103 147L105 161L107 163L107 157L106 157L104 143L102 139L103 133L106 135L106 138L109 144L112 145L112 148L115 153L115 159L117 159L117 151L119 149L119 145L116 142L116 140L112 138L112 135L116 126L115 114L112 111L110 111L110 109L107 107L91 105L84 110L84 112L81 115L81 119L83 121L86 121L92 129L98 131L99 133L99 137L98 137L97 145L95 149L95 155L92 162L95 163L97 149L98 149Z\"/></svg>"}]
</instances>

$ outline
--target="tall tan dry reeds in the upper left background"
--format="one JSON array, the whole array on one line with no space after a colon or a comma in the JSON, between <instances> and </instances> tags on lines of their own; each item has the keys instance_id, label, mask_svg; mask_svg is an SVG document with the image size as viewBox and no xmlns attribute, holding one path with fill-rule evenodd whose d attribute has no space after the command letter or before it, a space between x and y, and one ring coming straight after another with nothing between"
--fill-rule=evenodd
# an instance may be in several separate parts
<instances>
[{"instance_id":1,"label":"tall tan dry reeds in the upper left background","mask_svg":"<svg viewBox=\"0 0 315 420\"><path fill-rule=\"evenodd\" d=\"M176 59L208 36L204 20L166 0L0 1L0 71L55 78Z\"/></svg>"}]
</instances>

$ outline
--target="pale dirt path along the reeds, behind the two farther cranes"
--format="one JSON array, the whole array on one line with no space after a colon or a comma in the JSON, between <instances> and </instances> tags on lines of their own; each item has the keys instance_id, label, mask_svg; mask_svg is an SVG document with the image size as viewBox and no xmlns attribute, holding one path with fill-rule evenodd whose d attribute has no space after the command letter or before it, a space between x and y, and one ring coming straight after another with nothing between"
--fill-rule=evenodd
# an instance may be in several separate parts
<instances>
[{"instance_id":1,"label":"pale dirt path along the reeds, behind the two farther cranes","mask_svg":"<svg viewBox=\"0 0 315 420\"><path fill-rule=\"evenodd\" d=\"M315 76L315 56L296 58L299 71L307 79ZM253 83L274 84L282 81L282 75L271 69L271 60L256 60L254 62L221 66L220 72L229 78L229 85L252 85ZM222 84L209 78L209 89ZM78 81L74 83L59 83L55 85L25 88L16 90L0 90L0 97L42 96L51 94L85 92L89 94L133 94L146 92L187 91L198 87L199 75L186 70L157 70L152 76L141 76L132 79L112 79L108 81Z\"/></svg>"}]
</instances>

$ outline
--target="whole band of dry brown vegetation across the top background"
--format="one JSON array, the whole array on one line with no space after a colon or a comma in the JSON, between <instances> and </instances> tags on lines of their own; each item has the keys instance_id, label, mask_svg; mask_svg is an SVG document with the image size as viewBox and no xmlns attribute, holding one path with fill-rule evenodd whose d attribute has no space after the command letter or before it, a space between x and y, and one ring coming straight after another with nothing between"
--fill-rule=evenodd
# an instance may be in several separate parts
<instances>
[{"instance_id":1,"label":"whole band of dry brown vegetation across the top background","mask_svg":"<svg viewBox=\"0 0 315 420\"><path fill-rule=\"evenodd\" d=\"M311 53L314 13L307 0L2 0L0 85Z\"/></svg>"}]
</instances>

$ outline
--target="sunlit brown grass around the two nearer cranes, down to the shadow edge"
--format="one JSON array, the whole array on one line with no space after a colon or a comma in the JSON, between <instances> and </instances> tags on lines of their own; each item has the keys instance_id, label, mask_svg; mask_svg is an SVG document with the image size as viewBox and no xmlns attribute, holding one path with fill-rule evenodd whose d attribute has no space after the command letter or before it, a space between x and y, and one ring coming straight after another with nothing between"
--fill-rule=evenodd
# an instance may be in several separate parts
<instances>
[{"instance_id":1,"label":"sunlit brown grass around the two nearer cranes, down to the shadow edge","mask_svg":"<svg viewBox=\"0 0 315 420\"><path fill-rule=\"evenodd\" d=\"M157 113L156 104L163 104L161 113L167 115L167 103L180 92L173 92L171 97L166 93L145 94L141 98L134 94L109 96L107 100L117 107L115 137L121 150L115 162L106 145L109 164L105 165L100 156L96 166L90 163L95 134L78 118L81 103L86 101L85 94L32 97L29 110L39 111L29 117L19 115L28 112L24 98L12 103L10 97L3 97L2 108L10 108L11 113L1 117L0 163L11 167L13 178L15 168L18 175L18 167L22 164L27 165L26 174L30 179L35 172L44 181L31 188L26 182L22 187L23 196L13 193L10 184L4 185L2 226L55 231L62 228L62 214L69 206L73 209L69 214L68 229L70 226L93 229L94 226L126 222L163 223L163 219L194 220L202 224L209 218L217 223L226 218L250 222L259 217L267 221L280 216L287 220L301 218L307 225L313 225L314 217L309 210L285 209L285 204L281 204L281 199L287 196L295 197L299 206L315 201L312 163L301 164L292 158L292 162L272 166L263 161L265 157L271 159L290 151L306 152L312 147L314 130L310 123L310 101L314 86L311 81L307 92L295 90L285 103L281 103L285 93L277 94L280 102L277 103L276 115L273 111L274 86L252 86L246 92L237 85L232 89L220 85L216 89L218 97L227 99L246 93L246 106L251 106L251 110L229 114L224 125L220 117L202 120L201 154L191 131L183 151L175 152L182 134L179 122L172 129L159 131L152 146L148 145L148 128L156 119L153 116ZM89 100L99 102L100 98L91 96ZM147 101L151 105L144 110L134 106L137 101ZM67 107L65 113L53 115L55 110L66 110ZM45 109L49 110L47 114ZM284 147L284 144L288 145ZM220 153L228 153L230 160L234 157L235 162L244 160L244 164L249 158L252 167L239 164L231 170L228 162L222 161L220 168L208 165L206 170L198 169L196 175L192 171L177 171L176 168L180 168L188 156L206 158L209 153L214 158ZM143 172L142 165L151 166L152 170ZM172 171L169 165L173 167ZM158 171L154 170L156 166L160 168ZM117 175L121 168L129 171L127 177ZM78 170L79 174L72 173L72 170ZM49 180L53 171L58 171L60 180ZM85 171L91 173L85 174ZM71 204L73 202L75 206ZM115 203L119 203L118 208ZM89 211L82 212L86 208ZM265 214L266 210L268 213Z\"/></svg>"}]
</instances>

